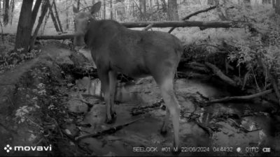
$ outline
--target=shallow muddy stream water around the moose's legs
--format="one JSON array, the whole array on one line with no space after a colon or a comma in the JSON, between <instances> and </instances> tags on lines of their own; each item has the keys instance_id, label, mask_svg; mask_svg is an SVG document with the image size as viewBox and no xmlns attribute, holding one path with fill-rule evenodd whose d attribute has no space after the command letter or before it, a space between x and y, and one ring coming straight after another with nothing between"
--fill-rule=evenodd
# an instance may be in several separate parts
<instances>
[{"instance_id":1,"label":"shallow muddy stream water around the moose's legs","mask_svg":"<svg viewBox=\"0 0 280 157\"><path fill-rule=\"evenodd\" d=\"M95 86L99 87L96 80ZM92 84L92 81L88 84ZM86 86L86 85L85 85ZM87 89L99 95L96 89ZM181 105L180 139L183 151L179 156L211 155L211 156L262 156L275 155L279 151L279 130L274 127L277 122L267 116L263 111L270 105L267 103L214 103L207 107L201 107L194 100L202 100L199 94L206 97L229 96L225 89L214 87L213 84L199 80L179 79L175 82L176 96ZM142 117L141 120L125 126L111 135L103 135L97 138L88 137L80 140L80 145L94 152L97 156L170 156L169 147L172 147L172 124L169 123L167 135L160 134L162 119L165 110L156 109L132 116L132 107L153 105L160 100L160 90L151 77L143 80L118 84L116 93L117 119L114 124L105 124L105 105L101 100L88 96L88 102L94 102L90 112L86 112L81 124L91 124L90 128L81 127L80 135L94 133L99 130L119 126ZM256 116L248 113L263 112ZM186 117L190 114L198 115L195 119ZM200 125L202 124L202 126ZM210 131L205 130L208 128ZM139 148L143 147L143 148ZM148 149L153 147L153 149ZM195 149L188 149L195 147ZM209 148L207 152L198 147ZM225 147L227 149L225 149ZM241 151L237 152L240 147ZM258 153L249 148L258 147ZM273 154L262 153L262 147L270 147ZM219 148L219 149L218 149ZM224 148L224 149L221 149ZM146 150L143 151L142 149ZM156 149L156 151L155 151ZM151 151L153 150L153 151ZM163 151L167 150L167 151Z\"/></svg>"}]
</instances>

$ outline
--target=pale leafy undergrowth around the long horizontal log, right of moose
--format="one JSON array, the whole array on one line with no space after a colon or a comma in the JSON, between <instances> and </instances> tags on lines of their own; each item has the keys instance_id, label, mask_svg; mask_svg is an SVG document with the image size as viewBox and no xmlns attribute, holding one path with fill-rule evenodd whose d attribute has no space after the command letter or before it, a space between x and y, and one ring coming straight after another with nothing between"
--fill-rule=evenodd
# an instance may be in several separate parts
<instances>
[{"instance_id":1,"label":"pale leafy undergrowth around the long horizontal log, right of moose","mask_svg":"<svg viewBox=\"0 0 280 157\"><path fill-rule=\"evenodd\" d=\"M235 8L226 9L230 6ZM181 8L179 15L183 10L190 13L196 11L193 10L195 6L193 8L181 6ZM231 66L235 69L239 67L239 70L233 70L228 75L238 76L237 80L251 82L253 83L251 85L258 90L260 90L260 87L266 88L269 82L265 73L270 71L275 74L275 77L280 78L280 34L277 27L280 24L279 15L274 13L271 5L248 6L227 1L222 8L221 10L226 10L229 20L249 22L251 26L244 29L206 29L203 31L198 28L178 28L174 30L174 34L188 45L185 57L191 56L194 59L199 55L206 55L209 59L212 54L223 52L223 54L228 54ZM188 11L188 9L192 11ZM201 10L199 8L195 9ZM183 13L183 15L190 13ZM190 20L221 20L218 15L218 10L211 10L191 17ZM257 57L262 59L267 69L262 68ZM198 57L198 59L201 58ZM218 60L223 63L223 66L219 68L221 70L225 69L224 59ZM217 65L215 60L214 64ZM219 66L219 63L217 66ZM248 75L248 78L245 78L246 75Z\"/></svg>"}]
</instances>

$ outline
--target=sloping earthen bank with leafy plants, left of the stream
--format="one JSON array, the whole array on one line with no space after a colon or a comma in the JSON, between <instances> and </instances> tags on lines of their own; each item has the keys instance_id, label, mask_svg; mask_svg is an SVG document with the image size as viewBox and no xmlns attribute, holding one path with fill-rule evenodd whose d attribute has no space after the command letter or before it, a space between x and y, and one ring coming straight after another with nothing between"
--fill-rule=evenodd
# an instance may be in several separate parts
<instances>
[{"instance_id":1,"label":"sloping earthen bank with leafy plants, left of the stream","mask_svg":"<svg viewBox=\"0 0 280 157\"><path fill-rule=\"evenodd\" d=\"M73 117L63 105L66 97L60 89L66 82L60 66L73 65L73 52L58 46L43 47L38 58L0 75L1 156L60 154L57 144L66 138L56 135L63 135L61 125ZM7 144L9 152L3 149ZM45 146L48 151L16 151L15 146Z\"/></svg>"}]
</instances>

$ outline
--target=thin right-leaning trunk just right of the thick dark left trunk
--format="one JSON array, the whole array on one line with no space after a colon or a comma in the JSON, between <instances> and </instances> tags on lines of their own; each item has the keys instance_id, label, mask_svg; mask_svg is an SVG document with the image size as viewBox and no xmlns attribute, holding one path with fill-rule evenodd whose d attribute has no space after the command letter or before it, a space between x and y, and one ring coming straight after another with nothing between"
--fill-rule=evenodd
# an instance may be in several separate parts
<instances>
[{"instance_id":1,"label":"thin right-leaning trunk just right of the thick dark left trunk","mask_svg":"<svg viewBox=\"0 0 280 157\"><path fill-rule=\"evenodd\" d=\"M45 14L48 12L48 0L44 0L43 4L42 4L42 7L41 7L41 16L39 17L38 19L38 24L37 24L37 27L34 31L34 34L30 40L30 50L32 50L34 48L34 43L35 43L35 40L36 40L36 37L38 35L38 31L41 27L41 24L43 23L43 19L45 17Z\"/></svg>"}]
</instances>

